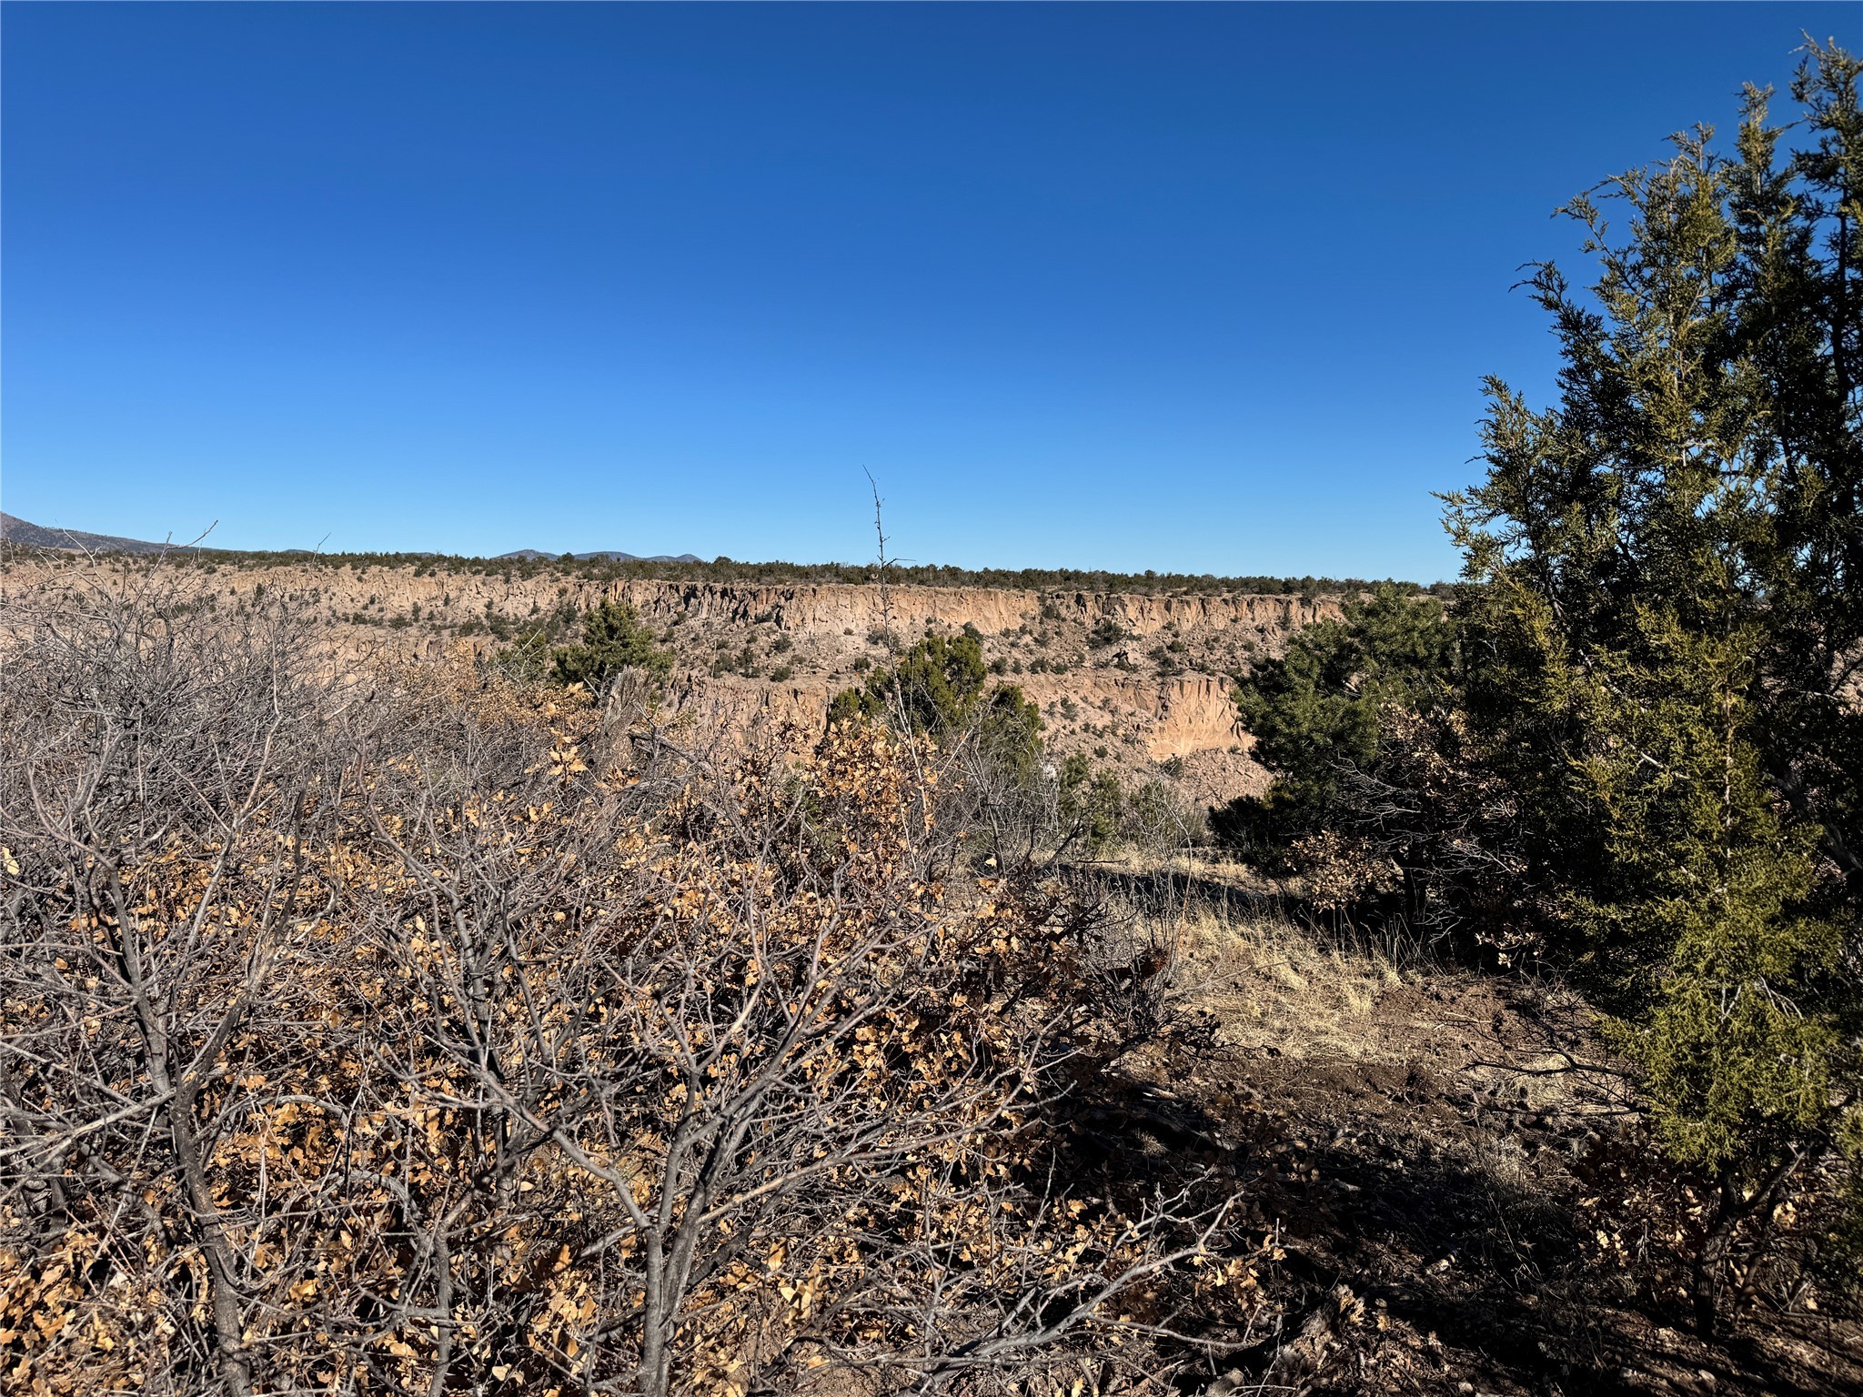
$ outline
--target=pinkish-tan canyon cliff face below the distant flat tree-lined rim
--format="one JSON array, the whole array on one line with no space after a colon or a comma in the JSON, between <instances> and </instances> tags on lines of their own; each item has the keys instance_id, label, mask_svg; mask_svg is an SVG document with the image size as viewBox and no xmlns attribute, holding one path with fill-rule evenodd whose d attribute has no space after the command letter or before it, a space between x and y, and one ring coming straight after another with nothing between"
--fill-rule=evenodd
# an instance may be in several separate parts
<instances>
[{"instance_id":1,"label":"pinkish-tan canyon cliff face below the distant flat tree-lined rim","mask_svg":"<svg viewBox=\"0 0 1863 1397\"><path fill-rule=\"evenodd\" d=\"M30 587L45 568L13 561L0 568L0 587ZM315 618L345 654L412 661L486 658L527 633L563 643L583 609L624 600L674 652L669 715L708 728L786 721L820 732L833 695L887 663L894 646L971 626L995 682L1019 685L1040 706L1058 756L1084 753L1125 779L1177 780L1207 803L1265 786L1228 676L1338 615L1336 598L1258 594L605 583L434 564L181 568L207 613L250 607L263 589Z\"/></svg>"}]
</instances>

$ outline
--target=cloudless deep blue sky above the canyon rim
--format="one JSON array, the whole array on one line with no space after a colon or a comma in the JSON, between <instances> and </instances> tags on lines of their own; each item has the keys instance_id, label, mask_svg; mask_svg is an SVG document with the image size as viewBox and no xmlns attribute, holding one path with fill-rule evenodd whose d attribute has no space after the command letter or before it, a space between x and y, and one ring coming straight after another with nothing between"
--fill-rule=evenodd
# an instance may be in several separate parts
<instances>
[{"instance_id":1,"label":"cloudless deep blue sky above the canyon rim","mask_svg":"<svg viewBox=\"0 0 1863 1397\"><path fill-rule=\"evenodd\" d=\"M1550 210L1859 15L7 4L0 503L1449 576Z\"/></svg>"}]
</instances>

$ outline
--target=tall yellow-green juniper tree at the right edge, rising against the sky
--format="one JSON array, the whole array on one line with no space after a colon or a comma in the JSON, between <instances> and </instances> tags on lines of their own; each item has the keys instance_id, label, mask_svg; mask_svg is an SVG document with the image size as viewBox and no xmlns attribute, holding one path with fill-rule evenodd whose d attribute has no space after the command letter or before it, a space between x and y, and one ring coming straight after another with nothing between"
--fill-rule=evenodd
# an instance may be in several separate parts
<instances>
[{"instance_id":1,"label":"tall yellow-green juniper tree at the right edge, rising against the sky","mask_svg":"<svg viewBox=\"0 0 1863 1397\"><path fill-rule=\"evenodd\" d=\"M1800 153L1749 88L1731 156L1699 127L1567 207L1591 294L1530 279L1559 400L1490 380L1449 497L1470 723L1658 1138L1714 1179L1703 1330L1859 1086L1863 127L1857 61L1807 52Z\"/></svg>"}]
</instances>

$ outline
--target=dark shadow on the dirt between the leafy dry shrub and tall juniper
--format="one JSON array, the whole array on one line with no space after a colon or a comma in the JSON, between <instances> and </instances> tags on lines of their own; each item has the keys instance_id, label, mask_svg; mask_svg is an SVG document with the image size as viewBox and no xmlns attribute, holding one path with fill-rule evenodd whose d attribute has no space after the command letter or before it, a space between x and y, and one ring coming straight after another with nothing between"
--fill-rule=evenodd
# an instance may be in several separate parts
<instances>
[{"instance_id":1,"label":"dark shadow on the dirt between the leafy dry shrub and tall juniper","mask_svg":"<svg viewBox=\"0 0 1863 1397\"><path fill-rule=\"evenodd\" d=\"M1299 1024L1278 1045L1159 1041L1088 1075L1067 1105L1064 1166L1079 1177L1205 1177L1239 1190L1243 1231L1278 1242L1261 1274L1274 1317L1220 1358L1187 1352L1181 1390L1239 1369L1244 1393L1863 1391L1854 1315L1755 1302L1703 1343L1682 1298L1660 1298L1679 1254L1600 1259L1587 1164L1621 1140L1621 1088L1578 1073L1554 1092L1507 1071L1582 1049L1569 1002L1444 972L1394 985L1369 1017L1356 1056L1308 1051ZM1338 1311L1341 1285L1349 1313L1317 1369L1289 1380L1272 1326L1289 1337Z\"/></svg>"}]
</instances>

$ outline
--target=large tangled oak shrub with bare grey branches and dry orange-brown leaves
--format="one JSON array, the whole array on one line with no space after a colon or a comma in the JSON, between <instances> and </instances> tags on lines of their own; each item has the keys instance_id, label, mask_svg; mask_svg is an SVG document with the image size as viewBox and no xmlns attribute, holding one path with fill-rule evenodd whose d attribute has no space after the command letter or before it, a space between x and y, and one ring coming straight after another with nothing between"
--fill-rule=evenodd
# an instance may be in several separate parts
<instances>
[{"instance_id":1,"label":"large tangled oak shrub with bare grey branches and dry orange-brown leaves","mask_svg":"<svg viewBox=\"0 0 1863 1397\"><path fill-rule=\"evenodd\" d=\"M1094 915L956 872L961 738L693 751L160 568L4 622L9 1390L980 1391L1252 1311L1218 1190L1069 1164Z\"/></svg>"}]
</instances>

